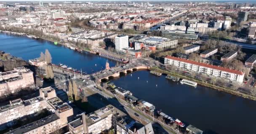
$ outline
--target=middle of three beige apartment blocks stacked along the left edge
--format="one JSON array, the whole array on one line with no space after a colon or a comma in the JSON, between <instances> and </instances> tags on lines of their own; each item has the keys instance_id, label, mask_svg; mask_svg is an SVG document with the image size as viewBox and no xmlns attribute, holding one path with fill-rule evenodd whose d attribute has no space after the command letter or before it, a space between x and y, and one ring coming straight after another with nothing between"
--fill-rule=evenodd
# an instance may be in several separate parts
<instances>
[{"instance_id":1,"label":"middle of three beige apartment blocks stacked along the left edge","mask_svg":"<svg viewBox=\"0 0 256 134\"><path fill-rule=\"evenodd\" d=\"M24 116L34 116L45 108L51 108L46 100L55 98L55 90L51 87L41 88L40 96L27 100L13 100L8 104L0 106L0 130L15 124L14 120Z\"/></svg>"}]
</instances>

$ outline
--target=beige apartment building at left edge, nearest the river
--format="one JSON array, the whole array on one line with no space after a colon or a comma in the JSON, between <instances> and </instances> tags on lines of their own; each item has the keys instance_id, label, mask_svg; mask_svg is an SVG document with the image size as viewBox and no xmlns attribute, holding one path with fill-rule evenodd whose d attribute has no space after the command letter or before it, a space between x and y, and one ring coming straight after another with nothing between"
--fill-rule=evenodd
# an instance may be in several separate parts
<instances>
[{"instance_id":1,"label":"beige apartment building at left edge, nearest the river","mask_svg":"<svg viewBox=\"0 0 256 134\"><path fill-rule=\"evenodd\" d=\"M33 72L25 67L0 72L0 96L18 92L35 85Z\"/></svg>"}]
</instances>

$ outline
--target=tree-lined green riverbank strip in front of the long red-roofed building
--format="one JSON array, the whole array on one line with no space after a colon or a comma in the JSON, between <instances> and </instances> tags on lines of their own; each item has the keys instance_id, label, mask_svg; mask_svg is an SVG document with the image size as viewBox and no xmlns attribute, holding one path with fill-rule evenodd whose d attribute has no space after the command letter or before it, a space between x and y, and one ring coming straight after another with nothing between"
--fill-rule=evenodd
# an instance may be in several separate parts
<instances>
[{"instance_id":1,"label":"tree-lined green riverbank strip in front of the long red-roofed building","mask_svg":"<svg viewBox=\"0 0 256 134\"><path fill-rule=\"evenodd\" d=\"M172 75L174 77L180 77L180 78L183 78L183 79L187 79L187 80L191 80L191 81L197 82L198 85L202 85L202 86L205 86L205 87L208 87L208 88L212 88L212 89L215 89L215 90L223 91L225 93L230 93L232 95L237 95L239 97L243 97L243 98L247 98L247 99L256 101L256 97L251 96L251 95L247 95L247 94L244 94L244 93L240 93L240 92L237 92L237 91L234 91L231 88L219 87L219 86L213 85L211 83L206 83L206 82L203 82L201 80L196 80L195 78L187 77L187 76L184 76L184 75L180 75L180 74L175 73L175 72L169 72L169 71L166 71L166 70L162 70L162 69L159 69L157 67L150 67L150 70L157 70L158 72L161 72L163 74Z\"/></svg>"}]
</instances>

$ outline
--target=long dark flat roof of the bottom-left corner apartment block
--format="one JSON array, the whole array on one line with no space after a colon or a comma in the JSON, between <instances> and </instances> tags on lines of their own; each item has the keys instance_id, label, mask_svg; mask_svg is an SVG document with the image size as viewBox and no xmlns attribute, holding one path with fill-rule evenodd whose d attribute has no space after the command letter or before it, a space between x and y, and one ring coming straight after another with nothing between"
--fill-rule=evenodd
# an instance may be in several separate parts
<instances>
[{"instance_id":1,"label":"long dark flat roof of the bottom-left corner apartment block","mask_svg":"<svg viewBox=\"0 0 256 134\"><path fill-rule=\"evenodd\" d=\"M34 121L30 124L27 124L27 125L24 125L24 126L21 126L17 129L14 129L12 131L9 131L5 134L24 134L24 133L27 133L28 131L31 131L33 129L36 129L40 126L43 126L45 124L48 124L48 123L51 123L52 121L56 121L57 119L59 119L59 117L54 113L52 114L51 116L47 116L43 119L40 119L38 121Z\"/></svg>"}]
</instances>

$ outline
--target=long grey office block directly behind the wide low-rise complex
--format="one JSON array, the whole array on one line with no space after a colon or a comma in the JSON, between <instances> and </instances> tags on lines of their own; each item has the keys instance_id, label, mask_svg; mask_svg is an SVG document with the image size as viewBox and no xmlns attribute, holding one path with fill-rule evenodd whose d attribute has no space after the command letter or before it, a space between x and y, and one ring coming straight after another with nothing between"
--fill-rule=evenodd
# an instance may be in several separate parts
<instances>
[{"instance_id":1,"label":"long grey office block directly behind the wide low-rise complex","mask_svg":"<svg viewBox=\"0 0 256 134\"><path fill-rule=\"evenodd\" d=\"M173 30L173 31L167 31L163 30L162 34L164 37L168 38L178 38L178 39L191 39L191 40L196 40L198 38L198 32L188 32L188 31L178 31L178 30Z\"/></svg>"}]
</instances>

